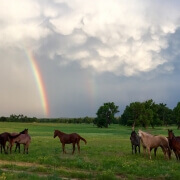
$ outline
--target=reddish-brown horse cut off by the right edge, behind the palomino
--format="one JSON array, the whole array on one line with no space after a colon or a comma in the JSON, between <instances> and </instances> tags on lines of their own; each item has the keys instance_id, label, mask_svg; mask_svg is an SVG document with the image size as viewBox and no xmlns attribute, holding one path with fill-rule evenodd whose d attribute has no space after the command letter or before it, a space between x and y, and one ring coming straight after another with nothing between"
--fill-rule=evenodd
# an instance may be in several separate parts
<instances>
[{"instance_id":1,"label":"reddish-brown horse cut off by the right edge, behind the palomino","mask_svg":"<svg viewBox=\"0 0 180 180\"><path fill-rule=\"evenodd\" d=\"M170 148L173 150L176 159L180 160L180 137L175 137L173 131L168 129L168 139Z\"/></svg>"}]
</instances>

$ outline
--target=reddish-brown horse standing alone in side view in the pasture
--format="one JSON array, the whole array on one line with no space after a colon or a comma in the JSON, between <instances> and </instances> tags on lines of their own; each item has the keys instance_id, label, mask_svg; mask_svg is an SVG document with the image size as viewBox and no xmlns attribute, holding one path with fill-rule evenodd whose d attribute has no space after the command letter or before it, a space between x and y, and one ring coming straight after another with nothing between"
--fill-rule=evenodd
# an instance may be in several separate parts
<instances>
[{"instance_id":1,"label":"reddish-brown horse standing alone in side view in the pasture","mask_svg":"<svg viewBox=\"0 0 180 180\"><path fill-rule=\"evenodd\" d=\"M63 154L66 153L65 144L71 144L71 143L73 144L72 154L74 154L75 144L77 144L78 151L80 153L80 145L79 145L80 140L83 140L85 142L85 144L87 143L87 141L77 133L66 134L66 133L63 133L59 130L54 130L54 138L56 136L59 137L60 142L62 143Z\"/></svg>"}]
</instances>

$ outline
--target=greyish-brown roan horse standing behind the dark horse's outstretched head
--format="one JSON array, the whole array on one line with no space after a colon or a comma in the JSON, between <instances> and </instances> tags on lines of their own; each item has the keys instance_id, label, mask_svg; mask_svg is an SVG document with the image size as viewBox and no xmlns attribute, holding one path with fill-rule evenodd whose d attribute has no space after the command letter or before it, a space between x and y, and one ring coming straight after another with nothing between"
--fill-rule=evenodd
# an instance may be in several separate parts
<instances>
[{"instance_id":1,"label":"greyish-brown roan horse standing behind the dark horse's outstretched head","mask_svg":"<svg viewBox=\"0 0 180 180\"><path fill-rule=\"evenodd\" d=\"M24 144L24 154L29 153L29 144L31 143L31 137L28 134L28 129L26 129L26 134L20 134L17 138L11 139L9 146L10 146L10 153L12 153L12 147L14 143Z\"/></svg>"}]
</instances>

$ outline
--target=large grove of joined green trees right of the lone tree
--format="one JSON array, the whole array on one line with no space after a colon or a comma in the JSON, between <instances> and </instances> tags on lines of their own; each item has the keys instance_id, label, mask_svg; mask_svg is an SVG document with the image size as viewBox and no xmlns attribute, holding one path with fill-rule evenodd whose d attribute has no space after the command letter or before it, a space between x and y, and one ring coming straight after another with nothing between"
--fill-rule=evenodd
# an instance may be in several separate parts
<instances>
[{"instance_id":1,"label":"large grove of joined green trees right of the lone tree","mask_svg":"<svg viewBox=\"0 0 180 180\"><path fill-rule=\"evenodd\" d=\"M180 127L180 103L174 110L166 104L156 104L152 99L144 102L133 102L126 106L121 115L120 124L128 126L167 126L178 124Z\"/></svg>"}]
</instances>

